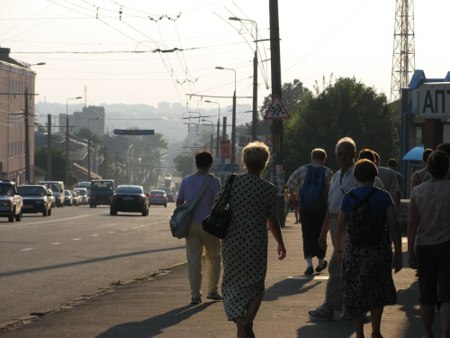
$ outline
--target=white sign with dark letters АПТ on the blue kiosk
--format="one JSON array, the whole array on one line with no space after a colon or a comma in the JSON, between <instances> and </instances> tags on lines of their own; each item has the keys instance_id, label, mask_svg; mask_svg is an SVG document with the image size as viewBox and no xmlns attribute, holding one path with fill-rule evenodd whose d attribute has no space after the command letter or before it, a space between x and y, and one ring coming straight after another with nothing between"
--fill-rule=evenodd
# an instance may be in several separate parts
<instances>
[{"instance_id":1,"label":"white sign with dark letters \u0410\u041f\u0422 on the blue kiosk","mask_svg":"<svg viewBox=\"0 0 450 338\"><path fill-rule=\"evenodd\" d=\"M417 117L450 118L450 83L419 87Z\"/></svg>"}]
</instances>

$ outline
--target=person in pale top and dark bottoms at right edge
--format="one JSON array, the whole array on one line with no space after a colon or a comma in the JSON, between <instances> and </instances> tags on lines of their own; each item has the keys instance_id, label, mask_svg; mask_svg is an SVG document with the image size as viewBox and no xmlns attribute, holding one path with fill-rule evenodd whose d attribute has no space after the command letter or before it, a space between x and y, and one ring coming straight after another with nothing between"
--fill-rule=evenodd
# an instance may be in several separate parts
<instances>
[{"instance_id":1,"label":"person in pale top and dark bottoms at right edge","mask_svg":"<svg viewBox=\"0 0 450 338\"><path fill-rule=\"evenodd\" d=\"M442 338L450 338L450 182L449 158L433 151L427 161L430 179L414 187L408 220L408 262L419 272L420 317L426 338L434 337L435 305Z\"/></svg>"}]
</instances>

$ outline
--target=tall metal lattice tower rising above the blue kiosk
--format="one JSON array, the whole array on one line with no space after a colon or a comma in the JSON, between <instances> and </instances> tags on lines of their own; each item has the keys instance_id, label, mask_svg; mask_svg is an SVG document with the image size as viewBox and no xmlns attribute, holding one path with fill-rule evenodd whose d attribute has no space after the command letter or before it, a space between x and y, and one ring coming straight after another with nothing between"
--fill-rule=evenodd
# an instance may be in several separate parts
<instances>
[{"instance_id":1,"label":"tall metal lattice tower rising above the blue kiosk","mask_svg":"<svg viewBox=\"0 0 450 338\"><path fill-rule=\"evenodd\" d=\"M401 88L408 87L415 69L414 0L396 0L391 102L401 97Z\"/></svg>"}]
</instances>

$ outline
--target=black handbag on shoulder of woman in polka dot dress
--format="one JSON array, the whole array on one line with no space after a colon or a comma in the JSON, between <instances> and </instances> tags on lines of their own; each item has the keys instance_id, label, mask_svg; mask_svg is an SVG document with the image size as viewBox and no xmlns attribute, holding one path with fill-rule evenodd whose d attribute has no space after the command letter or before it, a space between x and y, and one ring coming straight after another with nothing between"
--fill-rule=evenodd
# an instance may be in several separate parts
<instances>
[{"instance_id":1,"label":"black handbag on shoulder of woman in polka dot dress","mask_svg":"<svg viewBox=\"0 0 450 338\"><path fill-rule=\"evenodd\" d=\"M206 216L206 218L202 220L203 230L220 239L224 238L227 234L229 222L231 221L229 191L231 190L234 178L236 178L236 174L231 174L227 182L227 187L225 187L219 201L212 208L211 215ZM222 198L224 198L223 202Z\"/></svg>"}]
</instances>

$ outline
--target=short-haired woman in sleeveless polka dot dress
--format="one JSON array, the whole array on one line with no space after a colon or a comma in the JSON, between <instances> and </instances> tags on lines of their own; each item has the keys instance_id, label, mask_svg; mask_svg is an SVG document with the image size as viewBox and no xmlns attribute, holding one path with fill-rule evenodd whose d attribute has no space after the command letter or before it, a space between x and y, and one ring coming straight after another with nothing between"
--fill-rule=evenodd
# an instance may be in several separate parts
<instances>
[{"instance_id":1,"label":"short-haired woman in sleeveless polka dot dress","mask_svg":"<svg viewBox=\"0 0 450 338\"><path fill-rule=\"evenodd\" d=\"M247 174L238 175L231 187L232 210L227 235L222 240L223 306L230 321L238 328L238 337L255 337L253 320L265 290L267 270L267 224L278 243L278 259L286 255L277 218L277 187L260 178L269 160L269 150L262 142L244 148ZM216 201L220 199L226 183Z\"/></svg>"}]
</instances>

